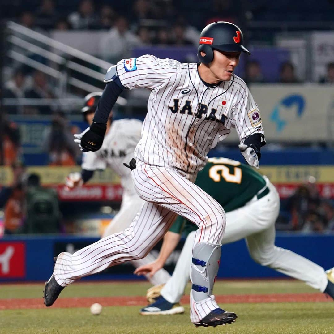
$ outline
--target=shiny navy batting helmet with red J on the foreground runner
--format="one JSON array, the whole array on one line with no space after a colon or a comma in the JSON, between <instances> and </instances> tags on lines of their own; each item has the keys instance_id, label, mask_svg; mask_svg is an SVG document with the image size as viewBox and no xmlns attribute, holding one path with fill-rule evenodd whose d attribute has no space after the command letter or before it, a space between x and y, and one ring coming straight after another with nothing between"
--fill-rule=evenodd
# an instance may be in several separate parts
<instances>
[{"instance_id":1,"label":"shiny navy batting helmet with red J on the foreground runner","mask_svg":"<svg viewBox=\"0 0 334 334\"><path fill-rule=\"evenodd\" d=\"M226 52L242 51L251 54L243 46L242 31L230 22L213 22L208 24L201 32L197 56L200 62L208 64L213 60L213 49ZM200 52L204 51L205 56Z\"/></svg>"}]
</instances>

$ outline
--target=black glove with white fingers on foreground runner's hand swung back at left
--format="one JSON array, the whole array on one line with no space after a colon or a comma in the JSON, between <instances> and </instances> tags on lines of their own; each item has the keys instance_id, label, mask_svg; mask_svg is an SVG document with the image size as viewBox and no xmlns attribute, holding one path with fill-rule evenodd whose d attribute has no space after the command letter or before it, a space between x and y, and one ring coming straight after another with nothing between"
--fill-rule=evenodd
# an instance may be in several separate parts
<instances>
[{"instance_id":1,"label":"black glove with white fingers on foreground runner's hand swung back at left","mask_svg":"<svg viewBox=\"0 0 334 334\"><path fill-rule=\"evenodd\" d=\"M102 144L107 126L103 123L95 123L78 135L74 135L74 142L77 143L82 152L98 151Z\"/></svg>"}]
</instances>

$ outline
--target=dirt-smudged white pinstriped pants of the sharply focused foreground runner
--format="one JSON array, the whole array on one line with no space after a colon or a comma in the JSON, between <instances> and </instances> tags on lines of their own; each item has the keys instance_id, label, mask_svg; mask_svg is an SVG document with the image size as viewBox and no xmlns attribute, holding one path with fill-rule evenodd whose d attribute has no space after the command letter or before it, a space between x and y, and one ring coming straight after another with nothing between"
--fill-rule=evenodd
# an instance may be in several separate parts
<instances>
[{"instance_id":1,"label":"dirt-smudged white pinstriped pants of the sharply focused foreground runner","mask_svg":"<svg viewBox=\"0 0 334 334\"><path fill-rule=\"evenodd\" d=\"M210 195L193 182L196 175L176 169L137 162L132 171L135 189L145 202L124 232L107 236L74 254L60 253L54 268L58 284L92 275L125 261L144 257L182 215L199 227L195 243L219 244L225 229L225 212ZM191 320L200 321L218 305L214 296L200 303L191 302Z\"/></svg>"}]
</instances>

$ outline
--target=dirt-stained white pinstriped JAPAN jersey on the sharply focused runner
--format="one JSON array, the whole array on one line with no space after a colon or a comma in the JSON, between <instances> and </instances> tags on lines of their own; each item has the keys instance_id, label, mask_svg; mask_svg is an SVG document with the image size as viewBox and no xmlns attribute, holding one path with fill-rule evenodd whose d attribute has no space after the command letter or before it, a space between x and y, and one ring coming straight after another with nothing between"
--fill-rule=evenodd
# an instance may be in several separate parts
<instances>
[{"instance_id":1,"label":"dirt-stained white pinstriped JAPAN jersey on the sharply focused runner","mask_svg":"<svg viewBox=\"0 0 334 334\"><path fill-rule=\"evenodd\" d=\"M258 106L245 82L233 74L230 81L207 87L197 66L152 55L117 63L125 88L151 90L137 159L195 173L232 127L241 143L254 133L263 134Z\"/></svg>"}]
</instances>

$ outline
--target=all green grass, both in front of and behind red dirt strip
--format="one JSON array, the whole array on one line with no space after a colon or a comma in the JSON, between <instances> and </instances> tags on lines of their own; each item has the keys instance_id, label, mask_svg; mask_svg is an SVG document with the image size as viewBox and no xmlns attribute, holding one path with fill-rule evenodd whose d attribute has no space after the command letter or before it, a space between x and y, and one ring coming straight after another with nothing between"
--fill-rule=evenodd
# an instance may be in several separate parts
<instances>
[{"instance_id":1,"label":"all green grass, both in front of and behind red dirt strip","mask_svg":"<svg viewBox=\"0 0 334 334\"><path fill-rule=\"evenodd\" d=\"M74 283L60 295L99 297L145 295L146 282ZM189 287L187 288L187 290ZM41 298L43 284L0 285L3 298ZM310 293L317 291L297 281L218 281L215 294ZM98 300L97 300L98 301ZM141 316L137 306L104 307L93 316L88 308L44 308L0 311L0 333L125 334L125 333L226 333L226 334L333 334L334 303L250 303L224 304L236 312L234 324L216 328L195 328L189 320L189 306L183 315Z\"/></svg>"}]
</instances>

